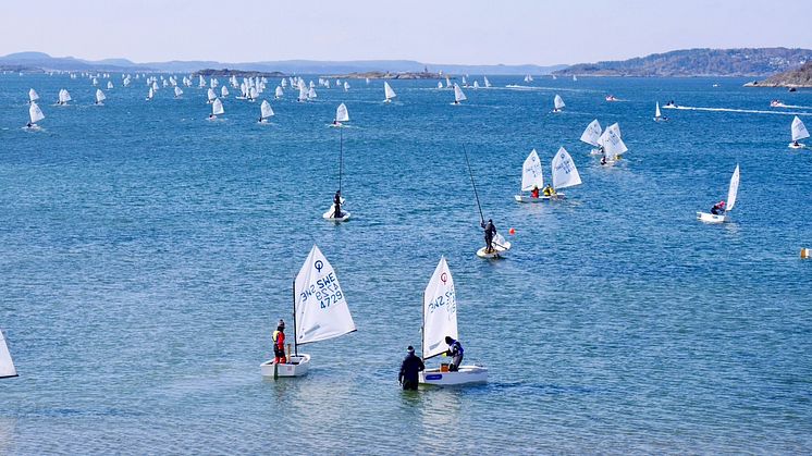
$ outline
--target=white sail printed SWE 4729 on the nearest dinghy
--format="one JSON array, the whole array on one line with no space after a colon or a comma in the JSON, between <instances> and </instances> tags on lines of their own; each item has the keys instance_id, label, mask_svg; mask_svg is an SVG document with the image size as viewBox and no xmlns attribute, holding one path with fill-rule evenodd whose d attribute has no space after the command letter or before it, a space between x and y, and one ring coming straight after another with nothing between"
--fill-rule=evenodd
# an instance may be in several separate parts
<instances>
[{"instance_id":1,"label":"white sail printed SWE 4729 on the nearest dinghy","mask_svg":"<svg viewBox=\"0 0 812 456\"><path fill-rule=\"evenodd\" d=\"M296 275L294 295L297 344L327 341L356 330L339 278L316 245Z\"/></svg>"}]
</instances>

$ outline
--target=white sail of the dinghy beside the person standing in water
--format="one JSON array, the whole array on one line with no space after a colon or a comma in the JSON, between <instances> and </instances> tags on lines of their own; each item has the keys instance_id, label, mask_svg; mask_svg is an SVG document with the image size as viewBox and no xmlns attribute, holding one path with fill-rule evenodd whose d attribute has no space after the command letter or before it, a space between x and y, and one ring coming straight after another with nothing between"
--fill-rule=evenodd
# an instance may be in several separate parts
<instances>
[{"instance_id":1,"label":"white sail of the dinghy beside the person standing in water","mask_svg":"<svg viewBox=\"0 0 812 456\"><path fill-rule=\"evenodd\" d=\"M423 292L423 359L431 358L448 349L445 336L457 338L457 295L454 279L445 262L434 268L429 285Z\"/></svg>"}]
</instances>

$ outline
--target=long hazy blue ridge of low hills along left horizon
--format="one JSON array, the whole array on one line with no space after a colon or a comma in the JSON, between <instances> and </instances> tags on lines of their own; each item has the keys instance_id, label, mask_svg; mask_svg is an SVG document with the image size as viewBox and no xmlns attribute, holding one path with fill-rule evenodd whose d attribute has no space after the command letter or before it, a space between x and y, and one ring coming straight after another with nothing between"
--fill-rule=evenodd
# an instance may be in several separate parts
<instances>
[{"instance_id":1,"label":"long hazy blue ridge of low hills along left horizon","mask_svg":"<svg viewBox=\"0 0 812 456\"><path fill-rule=\"evenodd\" d=\"M349 73L420 73L431 72L451 74L550 74L566 65L455 65L421 63L414 60L356 60L356 61L316 61L281 60L264 62L224 63L210 60L134 63L126 59L104 59L98 61L82 60L73 57L51 57L42 52L17 52L0 57L0 66L26 67L41 71L159 71L165 73L194 73L204 69L232 69L246 72L284 73L284 74L349 74Z\"/></svg>"}]
</instances>

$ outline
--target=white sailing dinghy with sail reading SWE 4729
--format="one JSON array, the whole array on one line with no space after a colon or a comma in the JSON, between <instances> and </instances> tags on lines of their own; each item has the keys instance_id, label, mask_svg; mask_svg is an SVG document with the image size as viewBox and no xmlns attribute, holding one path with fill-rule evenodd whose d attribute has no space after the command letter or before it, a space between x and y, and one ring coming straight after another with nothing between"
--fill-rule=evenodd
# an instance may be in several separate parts
<instances>
[{"instance_id":1,"label":"white sailing dinghy with sail reading SWE 4729","mask_svg":"<svg viewBox=\"0 0 812 456\"><path fill-rule=\"evenodd\" d=\"M310 355L299 354L299 345L329 341L356 331L335 270L316 245L293 281L293 356L288 356L284 363L273 359L262 362L262 377L306 375Z\"/></svg>"}]
</instances>

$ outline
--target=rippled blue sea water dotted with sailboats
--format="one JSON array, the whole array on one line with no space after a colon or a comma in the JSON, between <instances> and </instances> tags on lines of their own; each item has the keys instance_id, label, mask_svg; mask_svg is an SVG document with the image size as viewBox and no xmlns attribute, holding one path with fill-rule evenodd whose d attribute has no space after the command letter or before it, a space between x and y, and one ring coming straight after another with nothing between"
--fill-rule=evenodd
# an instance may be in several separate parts
<instances>
[{"instance_id":1,"label":"rippled blue sea water dotted with sailboats","mask_svg":"<svg viewBox=\"0 0 812 456\"><path fill-rule=\"evenodd\" d=\"M812 93L739 79L492 77L491 90L350 81L348 93L183 99L143 81L0 76L0 326L20 378L0 382L0 453L807 453L812 448L812 152L790 115L665 111L654 101L770 110ZM278 81L271 81L269 88ZM719 87L712 87L718 83ZM42 97L42 132L27 90ZM74 106L57 108L59 88ZM559 94L567 109L550 113ZM614 94L622 102L607 103ZM340 102L349 223L321 219L337 187ZM804 112L804 110L798 110ZM812 112L812 109L805 110ZM619 122L626 159L578 141ZM812 116L803 119L812 120ZM809 123L809 122L808 122ZM514 248L473 254L479 214ZM559 146L583 185L517 205L520 168ZM726 197L734 223L697 210ZM307 378L263 381L291 283L316 243L358 331L313 344ZM488 385L404 393L421 296L446 256L466 358Z\"/></svg>"}]
</instances>

